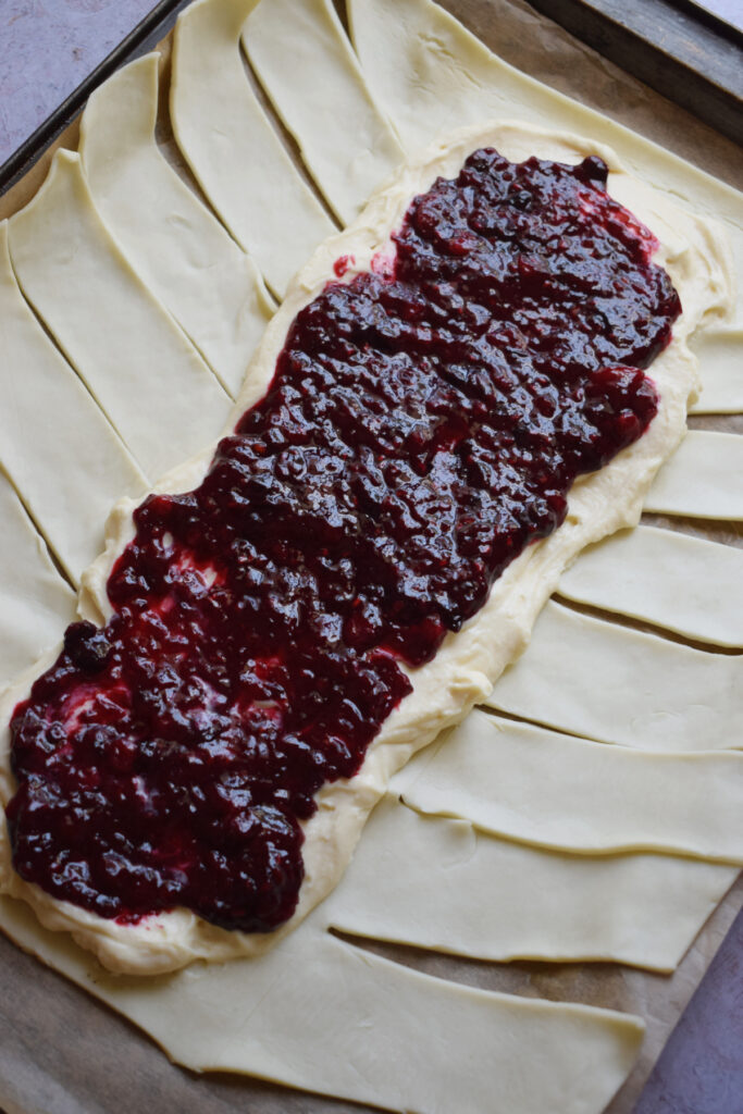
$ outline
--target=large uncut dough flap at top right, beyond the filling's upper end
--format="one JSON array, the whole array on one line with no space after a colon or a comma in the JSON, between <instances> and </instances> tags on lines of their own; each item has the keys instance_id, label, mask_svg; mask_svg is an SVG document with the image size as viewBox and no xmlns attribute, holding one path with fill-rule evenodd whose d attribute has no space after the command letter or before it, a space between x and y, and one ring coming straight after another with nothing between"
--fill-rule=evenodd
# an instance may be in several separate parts
<instances>
[{"instance_id":1,"label":"large uncut dough flap at top right, beyond the filling's upper end","mask_svg":"<svg viewBox=\"0 0 743 1114\"><path fill-rule=\"evenodd\" d=\"M507 65L432 0L346 0L353 43L366 84L407 150L440 133L485 119L517 118L568 128L610 144L633 172L664 196L725 224L743 274L743 194L657 144ZM390 28L394 32L390 32ZM736 321L743 326L743 289ZM743 349L737 349L739 364ZM704 367L701 369L704 380ZM737 412L740 385L713 373L716 408Z\"/></svg>"}]
</instances>

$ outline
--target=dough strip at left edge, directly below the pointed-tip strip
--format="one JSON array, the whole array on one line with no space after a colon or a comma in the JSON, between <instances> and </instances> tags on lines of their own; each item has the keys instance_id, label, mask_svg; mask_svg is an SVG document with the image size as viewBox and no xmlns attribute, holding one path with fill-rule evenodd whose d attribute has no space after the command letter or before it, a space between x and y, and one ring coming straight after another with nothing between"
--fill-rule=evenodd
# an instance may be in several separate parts
<instances>
[{"instance_id":1,"label":"dough strip at left edge, directly below the pointed-tip strip","mask_svg":"<svg viewBox=\"0 0 743 1114\"><path fill-rule=\"evenodd\" d=\"M23 300L7 222L0 224L0 463L77 584L104 547L113 504L140 494L145 477Z\"/></svg>"}]
</instances>

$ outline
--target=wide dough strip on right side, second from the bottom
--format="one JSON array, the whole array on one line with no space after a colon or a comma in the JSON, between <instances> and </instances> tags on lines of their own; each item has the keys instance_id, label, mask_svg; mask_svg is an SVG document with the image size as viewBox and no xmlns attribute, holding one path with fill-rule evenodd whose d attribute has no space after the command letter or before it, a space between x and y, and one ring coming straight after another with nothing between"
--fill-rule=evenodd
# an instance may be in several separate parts
<instances>
[{"instance_id":1,"label":"wide dough strip on right side, second from the bottom","mask_svg":"<svg viewBox=\"0 0 743 1114\"><path fill-rule=\"evenodd\" d=\"M355 936L473 959L671 971L736 876L736 867L666 854L538 850L419 815L390 794L324 915Z\"/></svg>"}]
</instances>

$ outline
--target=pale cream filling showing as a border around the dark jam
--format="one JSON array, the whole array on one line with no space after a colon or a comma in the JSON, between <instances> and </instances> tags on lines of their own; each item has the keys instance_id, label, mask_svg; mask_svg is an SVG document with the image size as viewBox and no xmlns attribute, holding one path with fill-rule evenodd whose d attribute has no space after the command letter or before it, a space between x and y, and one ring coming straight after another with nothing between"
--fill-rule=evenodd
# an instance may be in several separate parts
<instances>
[{"instance_id":1,"label":"pale cream filling showing as a border around the dark jam","mask_svg":"<svg viewBox=\"0 0 743 1114\"><path fill-rule=\"evenodd\" d=\"M190 10L199 11L204 7L197 4ZM338 882L369 810L383 792L390 775L416 750L443 727L460 721L473 703L490 692L492 682L526 645L534 619L565 566L583 546L636 521L655 471L683 434L686 401L696 375L686 338L708 316L722 313L730 299L726 255L714 227L674 211L667 201L659 217L658 197L635 184L607 148L571 135L531 129L520 124L469 128L436 144L377 194L351 228L319 248L297 275L284 304L270 323L248 370L235 414L264 392L289 324L323 289L333 274L335 258L353 255L359 270L368 267L377 252L390 250L389 234L401 222L410 198L428 188L439 174L454 175L467 155L482 145L493 145L516 160L536 154L576 162L597 152L612 168L612 193L646 219L662 243L669 238L668 250L661 250L659 262L668 268L680 289L685 313L676 323L673 343L653 365L661 392L658 414L635 446L600 472L575 485L564 526L514 561L493 586L482 610L459 634L446 639L430 665L411 674L412 694L384 724L360 773L349 782L336 782L320 792L317 813L305 825L306 873L297 912L282 930L267 937L224 932L185 910L148 918L138 926L105 921L23 883L9 867L9 849L3 841L0 847L3 888L30 901L48 927L71 931L111 969L155 973L177 968L199 957L216 960L241 954L254 956L284 939ZM649 212L648 198L652 201ZM211 451L173 471L158 489L193 487L203 477ZM109 520L106 554L84 578L81 607L85 614L104 618L108 613L106 578L111 563L131 536L131 501L125 500ZM0 716L6 723L10 702L18 698L19 691L11 692L0 707ZM7 769L7 732L2 746L4 775L0 789L6 801L12 792Z\"/></svg>"}]
</instances>

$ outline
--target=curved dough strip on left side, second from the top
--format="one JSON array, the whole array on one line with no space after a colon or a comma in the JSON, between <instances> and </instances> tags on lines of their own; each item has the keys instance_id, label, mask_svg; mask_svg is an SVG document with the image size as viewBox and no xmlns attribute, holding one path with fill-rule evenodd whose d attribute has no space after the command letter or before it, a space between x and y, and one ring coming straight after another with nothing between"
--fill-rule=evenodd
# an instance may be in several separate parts
<instances>
[{"instance_id":1,"label":"curved dough strip on left side, second from the top","mask_svg":"<svg viewBox=\"0 0 743 1114\"><path fill-rule=\"evenodd\" d=\"M297 174L243 69L239 36L257 0L197 0L176 23L170 117L202 189L283 295L335 227Z\"/></svg>"}]
</instances>

